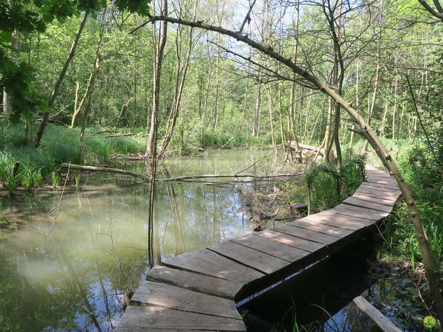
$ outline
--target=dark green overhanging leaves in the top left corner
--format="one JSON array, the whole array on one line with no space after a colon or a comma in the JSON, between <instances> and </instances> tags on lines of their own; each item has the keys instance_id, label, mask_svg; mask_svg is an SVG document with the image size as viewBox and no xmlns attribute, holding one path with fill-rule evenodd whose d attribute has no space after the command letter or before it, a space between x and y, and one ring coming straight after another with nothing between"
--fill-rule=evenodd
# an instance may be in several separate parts
<instances>
[{"instance_id":1,"label":"dark green overhanging leaves in the top left corner","mask_svg":"<svg viewBox=\"0 0 443 332\"><path fill-rule=\"evenodd\" d=\"M150 0L116 0L116 7L122 11L138 12L149 15ZM48 112L48 95L42 94L35 84L35 67L29 59L20 59L24 47L14 48L12 34L31 35L45 33L48 24L54 19L64 21L69 17L90 12L95 17L106 0L17 0L0 3L0 91L10 95L12 113L10 120L19 122L22 118L29 121L38 111ZM67 48L69 50L69 48ZM67 50L64 50L66 57Z\"/></svg>"}]
</instances>

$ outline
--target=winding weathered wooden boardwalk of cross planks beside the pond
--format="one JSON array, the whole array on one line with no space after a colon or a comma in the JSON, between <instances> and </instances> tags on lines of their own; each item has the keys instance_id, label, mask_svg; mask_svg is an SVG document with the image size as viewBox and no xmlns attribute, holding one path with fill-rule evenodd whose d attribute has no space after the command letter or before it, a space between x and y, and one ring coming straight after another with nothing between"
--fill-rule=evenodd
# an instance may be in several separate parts
<instances>
[{"instance_id":1,"label":"winding weathered wooden boardwalk of cross planks beside the pond","mask_svg":"<svg viewBox=\"0 0 443 332\"><path fill-rule=\"evenodd\" d=\"M150 270L117 331L246 331L236 300L261 291L362 237L400 191L367 167L355 194L327 211L163 261Z\"/></svg>"}]
</instances>

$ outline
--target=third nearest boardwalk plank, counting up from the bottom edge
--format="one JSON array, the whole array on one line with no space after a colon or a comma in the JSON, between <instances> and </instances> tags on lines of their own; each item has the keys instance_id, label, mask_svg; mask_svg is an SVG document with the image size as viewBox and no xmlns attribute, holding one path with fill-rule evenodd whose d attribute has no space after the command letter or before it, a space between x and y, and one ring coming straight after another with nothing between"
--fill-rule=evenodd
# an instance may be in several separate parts
<instances>
[{"instance_id":1,"label":"third nearest boardwalk plank, counting up from the bottom edge","mask_svg":"<svg viewBox=\"0 0 443 332\"><path fill-rule=\"evenodd\" d=\"M235 295L243 286L240 282L232 282L199 273L177 270L175 268L168 268L167 266L155 266L150 270L147 277L150 280L167 282L175 286L188 288L192 291L228 299L234 299Z\"/></svg>"}]
</instances>

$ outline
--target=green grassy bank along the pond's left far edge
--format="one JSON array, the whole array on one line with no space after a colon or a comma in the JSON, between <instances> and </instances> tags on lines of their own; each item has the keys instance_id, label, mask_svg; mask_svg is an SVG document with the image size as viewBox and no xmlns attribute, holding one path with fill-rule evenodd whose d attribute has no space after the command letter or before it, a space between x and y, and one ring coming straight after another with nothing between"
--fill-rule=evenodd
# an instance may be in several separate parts
<instances>
[{"instance_id":1,"label":"green grassy bank along the pond's left far edge","mask_svg":"<svg viewBox=\"0 0 443 332\"><path fill-rule=\"evenodd\" d=\"M145 150L146 138L142 131L119 137L106 137L109 133L93 136L96 131L94 128L87 129L84 140L84 163L87 165L107 165L115 154L138 154ZM55 184L58 165L80 163L79 142L80 129L49 125L41 147L35 149L26 144L23 126L2 127L0 183L3 190L13 192L17 186L30 189L42 182Z\"/></svg>"}]
</instances>

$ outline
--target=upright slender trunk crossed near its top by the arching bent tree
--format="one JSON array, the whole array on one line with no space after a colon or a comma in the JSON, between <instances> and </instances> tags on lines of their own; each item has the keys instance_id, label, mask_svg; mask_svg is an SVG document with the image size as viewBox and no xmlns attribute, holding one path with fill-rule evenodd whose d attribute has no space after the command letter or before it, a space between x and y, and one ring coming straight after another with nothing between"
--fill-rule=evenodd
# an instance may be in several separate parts
<instances>
[{"instance_id":1,"label":"upright slender trunk crossed near its top by the arching bent tree","mask_svg":"<svg viewBox=\"0 0 443 332\"><path fill-rule=\"evenodd\" d=\"M168 16L168 0L161 1L161 15L164 17ZM152 158L154 156L154 145L156 144L157 131L157 113L159 112L160 102L161 63L163 61L163 50L165 49L167 35L168 22L161 21L159 45L157 46L156 54L154 56L154 93L152 95L151 128L150 134L147 138L145 158Z\"/></svg>"}]
</instances>

